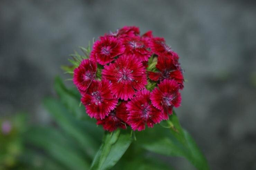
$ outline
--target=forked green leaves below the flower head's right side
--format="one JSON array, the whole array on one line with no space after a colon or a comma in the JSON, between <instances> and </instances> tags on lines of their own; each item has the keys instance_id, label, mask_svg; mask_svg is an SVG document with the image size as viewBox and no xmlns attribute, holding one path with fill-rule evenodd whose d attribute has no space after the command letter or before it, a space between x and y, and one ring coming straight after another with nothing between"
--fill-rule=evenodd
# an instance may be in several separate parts
<instances>
[{"instance_id":1,"label":"forked green leaves below the flower head's right side","mask_svg":"<svg viewBox=\"0 0 256 170\"><path fill-rule=\"evenodd\" d=\"M197 169L209 169L208 163L191 135L182 129L175 114L170 120L161 123L164 128L155 125L139 133L139 144L146 150L167 156L178 156L188 159Z\"/></svg>"}]
</instances>

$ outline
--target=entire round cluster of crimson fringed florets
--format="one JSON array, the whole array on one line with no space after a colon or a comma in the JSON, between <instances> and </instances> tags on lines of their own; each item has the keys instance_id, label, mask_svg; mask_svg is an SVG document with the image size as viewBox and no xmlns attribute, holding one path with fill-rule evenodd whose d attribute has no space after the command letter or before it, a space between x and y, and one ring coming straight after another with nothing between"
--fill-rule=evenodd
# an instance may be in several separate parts
<instances>
[{"instance_id":1,"label":"entire round cluster of crimson fringed florets","mask_svg":"<svg viewBox=\"0 0 256 170\"><path fill-rule=\"evenodd\" d=\"M90 117L105 130L144 130L167 120L181 103L179 56L152 31L125 26L100 37L73 82ZM99 74L98 74L99 73Z\"/></svg>"}]
</instances>

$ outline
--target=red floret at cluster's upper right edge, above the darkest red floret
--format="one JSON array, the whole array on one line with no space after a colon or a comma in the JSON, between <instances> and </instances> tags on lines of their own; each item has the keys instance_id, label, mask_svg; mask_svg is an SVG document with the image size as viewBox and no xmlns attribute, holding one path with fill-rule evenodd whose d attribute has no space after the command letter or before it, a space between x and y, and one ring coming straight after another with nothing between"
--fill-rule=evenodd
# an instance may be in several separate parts
<instances>
[{"instance_id":1,"label":"red floret at cluster's upper right edge, above the darkest red floret","mask_svg":"<svg viewBox=\"0 0 256 170\"><path fill-rule=\"evenodd\" d=\"M172 55L172 49L165 44L165 39L160 37L152 38L149 43L151 51L157 55Z\"/></svg>"}]
</instances>

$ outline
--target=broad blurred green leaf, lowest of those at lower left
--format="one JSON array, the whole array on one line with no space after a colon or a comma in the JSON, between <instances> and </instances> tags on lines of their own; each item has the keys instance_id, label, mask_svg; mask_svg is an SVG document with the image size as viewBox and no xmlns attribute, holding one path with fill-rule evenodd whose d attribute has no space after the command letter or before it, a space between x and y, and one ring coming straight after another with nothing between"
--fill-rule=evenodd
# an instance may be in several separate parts
<instances>
[{"instance_id":1,"label":"broad blurred green leaf, lowest of those at lower left","mask_svg":"<svg viewBox=\"0 0 256 170\"><path fill-rule=\"evenodd\" d=\"M27 143L43 149L52 159L69 169L88 169L89 163L76 145L53 128L32 127L26 134Z\"/></svg>"}]
</instances>

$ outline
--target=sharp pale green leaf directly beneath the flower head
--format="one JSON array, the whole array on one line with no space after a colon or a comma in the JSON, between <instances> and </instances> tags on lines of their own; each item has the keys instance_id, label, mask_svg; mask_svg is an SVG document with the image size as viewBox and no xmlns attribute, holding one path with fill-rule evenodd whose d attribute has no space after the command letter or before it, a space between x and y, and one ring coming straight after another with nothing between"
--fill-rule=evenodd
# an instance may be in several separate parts
<instances>
[{"instance_id":1,"label":"sharp pale green leaf directly beneath the flower head","mask_svg":"<svg viewBox=\"0 0 256 170\"><path fill-rule=\"evenodd\" d=\"M106 133L102 145L94 157L90 170L105 170L112 168L122 157L132 142L127 131L117 129L113 133Z\"/></svg>"}]
</instances>

